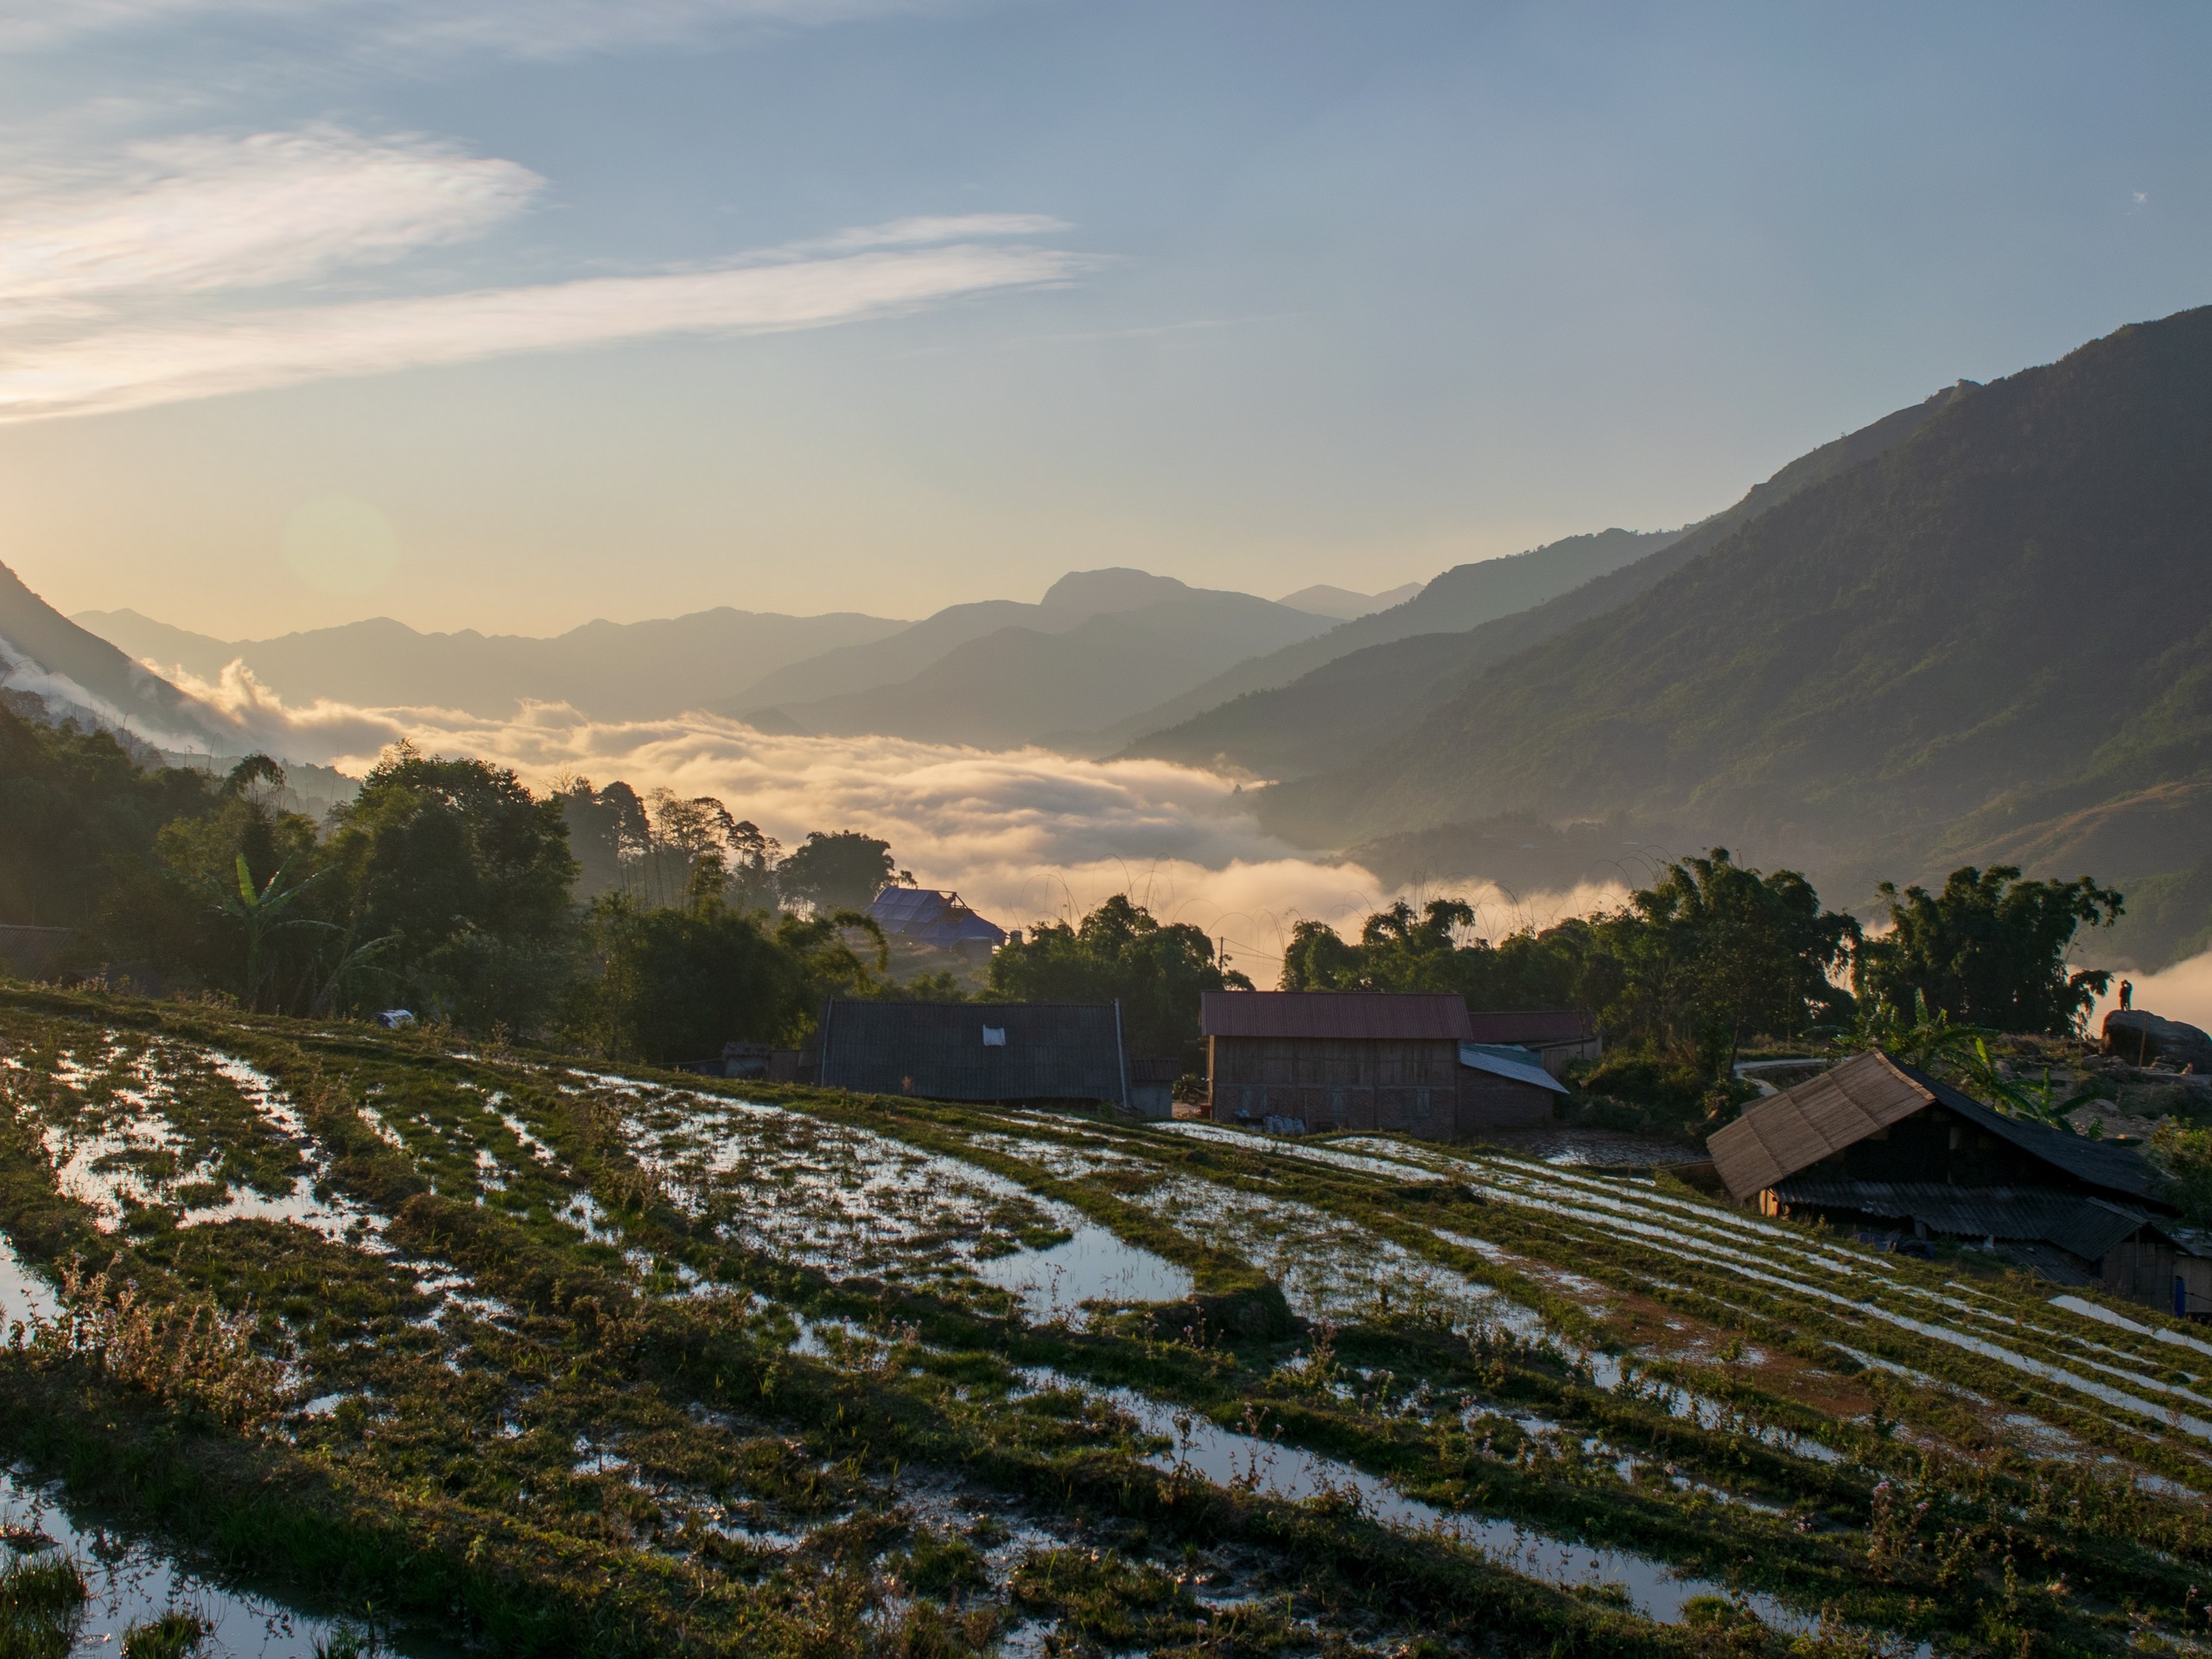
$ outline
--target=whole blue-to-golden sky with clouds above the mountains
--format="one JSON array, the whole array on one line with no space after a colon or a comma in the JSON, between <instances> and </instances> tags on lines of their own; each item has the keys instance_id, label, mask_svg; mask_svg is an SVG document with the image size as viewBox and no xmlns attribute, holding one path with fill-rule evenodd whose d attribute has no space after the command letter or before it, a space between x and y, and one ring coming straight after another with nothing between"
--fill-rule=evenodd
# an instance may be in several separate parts
<instances>
[{"instance_id":1,"label":"whole blue-to-golden sky with clouds above the mountains","mask_svg":"<svg viewBox=\"0 0 2212 1659\"><path fill-rule=\"evenodd\" d=\"M1378 591L2212 299L2212 9L0 0L0 560L221 637Z\"/></svg>"}]
</instances>

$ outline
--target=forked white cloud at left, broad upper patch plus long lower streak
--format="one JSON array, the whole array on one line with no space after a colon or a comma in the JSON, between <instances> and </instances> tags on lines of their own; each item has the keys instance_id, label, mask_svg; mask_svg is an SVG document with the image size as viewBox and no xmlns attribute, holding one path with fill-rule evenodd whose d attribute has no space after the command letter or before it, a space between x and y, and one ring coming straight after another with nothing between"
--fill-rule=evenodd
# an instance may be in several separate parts
<instances>
[{"instance_id":1,"label":"forked white cloud at left, broad upper patch plus long lower streak","mask_svg":"<svg viewBox=\"0 0 2212 1659\"><path fill-rule=\"evenodd\" d=\"M170 139L66 175L0 179L0 420L661 334L827 327L1060 283L1079 268L1068 252L984 241L1064 221L978 212L841 230L710 268L241 310L250 290L480 234L542 184L515 161L338 128Z\"/></svg>"}]
</instances>

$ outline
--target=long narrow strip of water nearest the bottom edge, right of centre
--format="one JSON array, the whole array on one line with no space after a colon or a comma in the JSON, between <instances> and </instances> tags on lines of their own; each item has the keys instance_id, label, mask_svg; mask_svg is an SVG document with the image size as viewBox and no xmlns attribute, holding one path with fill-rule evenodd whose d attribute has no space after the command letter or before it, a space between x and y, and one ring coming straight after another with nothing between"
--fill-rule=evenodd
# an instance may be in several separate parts
<instances>
[{"instance_id":1,"label":"long narrow strip of water nearest the bottom edge, right of centre","mask_svg":"<svg viewBox=\"0 0 2212 1659\"><path fill-rule=\"evenodd\" d=\"M1661 1624L1679 1621L1681 1610L1699 1595L1741 1595L1774 1630L1805 1635L1818 1628L1818 1619L1792 1613L1772 1595L1756 1590L1745 1595L1712 1579L1677 1577L1663 1562L1630 1551L1568 1544L1515 1522L1436 1509L1347 1462L1223 1429L1197 1411L1161 1405L1130 1389L1093 1387L1046 1369L1022 1371L1022 1378L1040 1394L1068 1389L1106 1400L1135 1418L1144 1433L1172 1440L1175 1451L1144 1458L1161 1473L1197 1473L1217 1486L1259 1491L1292 1504L1329 1493L1347 1495L1358 1500L1369 1520L1391 1531L1460 1544L1540 1584L1562 1590L1617 1584L1637 1613Z\"/></svg>"}]
</instances>

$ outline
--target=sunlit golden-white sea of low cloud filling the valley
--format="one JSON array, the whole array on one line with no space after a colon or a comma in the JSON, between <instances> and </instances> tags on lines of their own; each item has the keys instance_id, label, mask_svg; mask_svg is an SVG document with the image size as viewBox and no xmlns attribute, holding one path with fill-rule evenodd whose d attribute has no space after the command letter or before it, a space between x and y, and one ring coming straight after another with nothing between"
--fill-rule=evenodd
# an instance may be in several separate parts
<instances>
[{"instance_id":1,"label":"sunlit golden-white sea of low cloud filling the valley","mask_svg":"<svg viewBox=\"0 0 2212 1659\"><path fill-rule=\"evenodd\" d=\"M288 708L232 666L219 684L179 677L272 752L361 774L403 737L434 754L515 768L531 785L624 779L639 792L719 796L785 845L807 830L867 830L929 887L956 887L1009 927L1079 916L1128 891L1164 920L1225 936L1234 967L1272 984L1294 922L1356 927L1394 889L1358 865L1323 863L1265 834L1239 785L1166 761L1075 761L1048 750L971 750L894 737L776 737L734 719L591 721L560 703L487 721L456 710ZM1482 929L1619 902L1621 887L1506 894L1458 885Z\"/></svg>"}]
</instances>

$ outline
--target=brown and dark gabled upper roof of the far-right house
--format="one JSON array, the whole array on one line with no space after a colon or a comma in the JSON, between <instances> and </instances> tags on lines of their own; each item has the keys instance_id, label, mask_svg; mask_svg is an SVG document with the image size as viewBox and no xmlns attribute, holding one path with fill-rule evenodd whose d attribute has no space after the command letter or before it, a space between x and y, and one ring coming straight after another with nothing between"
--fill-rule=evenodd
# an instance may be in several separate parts
<instances>
[{"instance_id":1,"label":"brown and dark gabled upper roof of the far-right house","mask_svg":"<svg viewBox=\"0 0 2212 1659\"><path fill-rule=\"evenodd\" d=\"M1705 1146L1728 1190L1743 1201L1933 1104L1947 1106L1975 1128L2011 1141L2077 1181L2166 1208L2159 1199L2159 1172L2139 1152L2004 1117L1880 1048L1854 1055L1812 1082L1745 1108L1734 1124L1714 1130Z\"/></svg>"}]
</instances>

